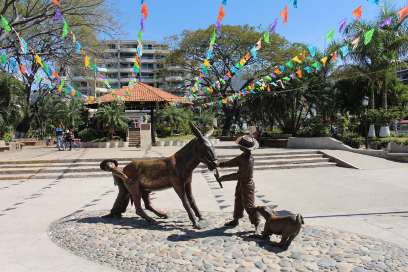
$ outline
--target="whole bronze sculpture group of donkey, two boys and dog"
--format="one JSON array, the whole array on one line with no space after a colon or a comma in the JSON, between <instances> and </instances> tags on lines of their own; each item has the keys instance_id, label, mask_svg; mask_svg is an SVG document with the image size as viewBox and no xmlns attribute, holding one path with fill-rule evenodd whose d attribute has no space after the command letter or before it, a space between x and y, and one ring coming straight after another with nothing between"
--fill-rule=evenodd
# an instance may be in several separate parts
<instances>
[{"instance_id":1,"label":"whole bronze sculpture group of donkey, two boys and dog","mask_svg":"<svg viewBox=\"0 0 408 272\"><path fill-rule=\"evenodd\" d=\"M251 155L253 150L258 149L259 143L249 135L244 135L236 140L241 155L227 161L218 162L214 147L208 137L213 133L213 128L205 135L189 122L193 134L196 136L181 150L174 155L158 160L134 160L125 167L117 167L115 160L107 159L101 162L100 168L111 171L115 185L118 185L119 192L115 203L109 214L105 218L120 218L125 212L129 201L135 204L136 214L143 217L150 224L157 224L156 220L149 217L141 207L141 199L145 208L155 213L159 217L168 218L169 215L156 210L150 202L150 192L173 187L179 195L184 208L186 209L193 226L197 229L196 217L205 220L195 203L191 190L192 172L200 162L205 163L209 170L217 167L238 166L238 171L224 176L214 174L216 180L221 184L223 181L237 180L235 188L234 214L233 220L226 222L227 227L234 227L239 224L239 219L247 212L251 224L255 226L255 232L250 235L254 238L265 239L271 234L282 235L280 242L270 242L271 245L289 246L304 224L300 214L289 216L276 216L275 211L270 211L266 206L255 205L255 183L253 181L254 159ZM261 213L266 222L264 230L260 230Z\"/></svg>"}]
</instances>

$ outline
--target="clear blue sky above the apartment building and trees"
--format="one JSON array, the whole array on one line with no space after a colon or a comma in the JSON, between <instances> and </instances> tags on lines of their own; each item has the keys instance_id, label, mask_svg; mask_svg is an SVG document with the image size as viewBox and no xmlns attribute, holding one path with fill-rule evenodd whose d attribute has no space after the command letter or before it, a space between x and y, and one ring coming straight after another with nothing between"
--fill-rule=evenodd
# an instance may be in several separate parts
<instances>
[{"instance_id":1,"label":"clear blue sky above the apartment building and trees","mask_svg":"<svg viewBox=\"0 0 408 272\"><path fill-rule=\"evenodd\" d=\"M122 39L137 39L140 26L140 0L122 0L119 9L127 17L125 32ZM380 3L382 0L380 0ZM407 0L393 0L393 4L401 8ZM205 29L215 23L221 0L146 0L149 13L145 23L143 40L163 42L164 37L180 34L184 29ZM279 13L288 5L288 22L284 25ZM289 0L227 0L224 6L225 16L222 24L262 24L266 30L271 22L278 19L276 32L292 42L315 43L330 29L335 28L334 38L340 38L339 22L345 17L348 22L356 18L351 13L363 5L362 19L371 20L379 12L379 6L367 0L298 0L295 9ZM256 41L254 41L256 42ZM315 43L324 47L324 39Z\"/></svg>"}]
</instances>

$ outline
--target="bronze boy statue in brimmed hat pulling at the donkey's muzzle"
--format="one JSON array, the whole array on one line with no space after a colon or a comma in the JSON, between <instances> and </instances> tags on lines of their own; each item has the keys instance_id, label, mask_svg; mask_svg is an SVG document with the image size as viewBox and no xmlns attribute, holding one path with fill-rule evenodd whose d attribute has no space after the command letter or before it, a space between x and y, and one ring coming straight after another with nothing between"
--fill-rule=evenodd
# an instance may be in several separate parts
<instances>
[{"instance_id":1,"label":"bronze boy statue in brimmed hat pulling at the donkey's muzzle","mask_svg":"<svg viewBox=\"0 0 408 272\"><path fill-rule=\"evenodd\" d=\"M252 179L253 177L253 158L251 156L251 151L256 150L259 147L257 140L249 135L244 135L239 137L236 141L239 144L239 148L243 153L232 160L218 162L219 167L234 167L238 166L238 172L233 174L228 174L224 176L218 176L214 174L218 182L238 180L237 186L235 188L235 202L234 202L234 219L232 221L226 222L224 225L228 227L234 227L239 224L239 218L244 216L244 209L249 216L251 224L255 225L256 234L260 234L259 226L259 214L256 210L255 205L255 183Z\"/></svg>"}]
</instances>

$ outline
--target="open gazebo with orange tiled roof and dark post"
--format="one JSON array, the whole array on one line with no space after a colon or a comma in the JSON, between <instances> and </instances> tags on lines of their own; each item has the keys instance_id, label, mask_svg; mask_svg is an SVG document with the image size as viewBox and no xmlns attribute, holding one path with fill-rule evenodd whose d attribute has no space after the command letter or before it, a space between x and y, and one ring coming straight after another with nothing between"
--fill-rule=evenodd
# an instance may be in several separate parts
<instances>
[{"instance_id":1,"label":"open gazebo with orange tiled roof and dark post","mask_svg":"<svg viewBox=\"0 0 408 272\"><path fill-rule=\"evenodd\" d=\"M132 86L132 89L129 91L130 95L125 93L126 90L126 87L118 89L115 91L115 96L112 96L111 93L101 95L98 97L100 104L108 104L112 101L117 101L118 96L127 96L123 102L126 110L150 110L151 143L156 143L155 110L159 110L160 107L168 104L168 102L179 102L181 98L141 82L136 82L136 84ZM96 109L98 107L98 102L96 100L93 102L87 101L84 105L90 109ZM184 104L184 106L191 105L193 105L191 102L186 102Z\"/></svg>"}]
</instances>

